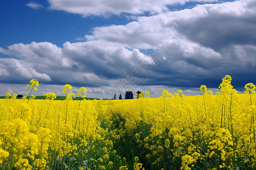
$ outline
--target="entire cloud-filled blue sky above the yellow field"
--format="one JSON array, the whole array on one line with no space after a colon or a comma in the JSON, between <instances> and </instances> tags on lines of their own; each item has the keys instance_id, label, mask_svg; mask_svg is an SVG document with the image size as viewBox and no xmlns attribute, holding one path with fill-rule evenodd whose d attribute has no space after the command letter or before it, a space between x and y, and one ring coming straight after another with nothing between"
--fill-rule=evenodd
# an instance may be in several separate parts
<instances>
[{"instance_id":1,"label":"entire cloud-filled blue sky above the yellow field","mask_svg":"<svg viewBox=\"0 0 256 170\"><path fill-rule=\"evenodd\" d=\"M10 0L0 23L0 96L32 78L36 95L71 84L106 99L256 83L255 0Z\"/></svg>"}]
</instances>

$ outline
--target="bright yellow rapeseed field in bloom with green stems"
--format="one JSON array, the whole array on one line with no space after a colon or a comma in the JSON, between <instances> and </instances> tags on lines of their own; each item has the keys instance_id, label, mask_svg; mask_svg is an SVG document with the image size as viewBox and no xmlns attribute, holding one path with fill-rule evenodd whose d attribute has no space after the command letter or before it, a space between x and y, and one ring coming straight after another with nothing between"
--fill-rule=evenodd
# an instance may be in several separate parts
<instances>
[{"instance_id":1,"label":"bright yellow rapeseed field in bloom with green stems","mask_svg":"<svg viewBox=\"0 0 256 170\"><path fill-rule=\"evenodd\" d=\"M60 101L33 100L32 79L28 97L0 100L0 169L255 169L255 86L238 95L231 80L131 100L75 101L66 84Z\"/></svg>"}]
</instances>

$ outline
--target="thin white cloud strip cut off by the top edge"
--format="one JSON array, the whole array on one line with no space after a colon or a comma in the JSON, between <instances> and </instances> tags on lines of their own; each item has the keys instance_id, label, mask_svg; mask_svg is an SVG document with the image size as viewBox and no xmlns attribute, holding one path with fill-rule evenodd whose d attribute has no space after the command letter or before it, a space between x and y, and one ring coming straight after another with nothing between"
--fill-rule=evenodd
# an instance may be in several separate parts
<instances>
[{"instance_id":1,"label":"thin white cloud strip cut off by the top edge","mask_svg":"<svg viewBox=\"0 0 256 170\"><path fill-rule=\"evenodd\" d=\"M86 17L90 15L119 15L121 13L138 15L144 14L144 12L157 14L168 11L168 6L170 5L184 5L186 2L217 2L217 0L48 0L48 2L53 10L63 10Z\"/></svg>"}]
</instances>

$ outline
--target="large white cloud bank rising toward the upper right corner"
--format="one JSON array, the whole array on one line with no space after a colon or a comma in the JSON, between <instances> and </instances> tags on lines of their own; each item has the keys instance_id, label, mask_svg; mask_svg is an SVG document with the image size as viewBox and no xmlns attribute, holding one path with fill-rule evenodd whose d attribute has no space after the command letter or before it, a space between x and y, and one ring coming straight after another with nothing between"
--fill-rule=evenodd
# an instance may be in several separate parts
<instances>
[{"instance_id":1,"label":"large white cloud bank rising toward the upper right corner","mask_svg":"<svg viewBox=\"0 0 256 170\"><path fill-rule=\"evenodd\" d=\"M166 42L174 42L185 44L184 50L187 52L192 49L187 47L193 44L203 43L201 46L205 47L212 44L222 45L225 42L232 42L232 36L236 37L242 33L249 39L249 34L256 28L256 25L250 24L249 19L248 23L246 20L243 21L243 17L248 14L255 16L256 13L247 10L246 5L245 1L205 4L192 9L167 11L149 17L141 16L137 21L126 25L96 27L92 35L85 35L85 39L105 40L131 49L159 49ZM232 23L229 20L232 20ZM242 24L245 24L245 27ZM218 43L222 36L227 40Z\"/></svg>"}]
</instances>

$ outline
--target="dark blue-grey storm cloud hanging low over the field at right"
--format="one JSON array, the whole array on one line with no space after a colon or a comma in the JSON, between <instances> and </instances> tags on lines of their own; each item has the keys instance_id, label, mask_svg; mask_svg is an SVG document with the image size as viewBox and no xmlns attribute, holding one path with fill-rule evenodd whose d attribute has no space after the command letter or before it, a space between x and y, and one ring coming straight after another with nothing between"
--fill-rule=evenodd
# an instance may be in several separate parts
<instances>
[{"instance_id":1,"label":"dark blue-grey storm cloud hanging low over the field at right","mask_svg":"<svg viewBox=\"0 0 256 170\"><path fill-rule=\"evenodd\" d=\"M143 84L162 84L177 87L200 87L205 84L210 88L218 88L221 79L231 75L235 88L244 87L246 83L256 82L256 46L233 45L222 49L220 56L205 58L204 53L197 57L187 58L180 53L162 50L166 60L160 60L161 66L156 67L154 74L148 76ZM176 48L176 52L179 48ZM179 56L179 57L178 57ZM219 57L219 58L218 58Z\"/></svg>"}]
</instances>

